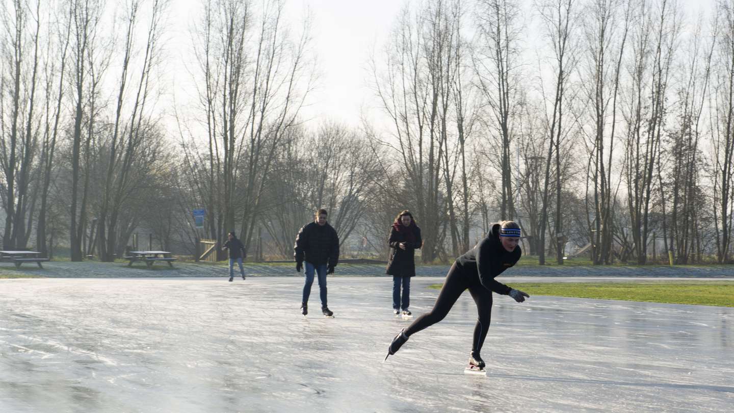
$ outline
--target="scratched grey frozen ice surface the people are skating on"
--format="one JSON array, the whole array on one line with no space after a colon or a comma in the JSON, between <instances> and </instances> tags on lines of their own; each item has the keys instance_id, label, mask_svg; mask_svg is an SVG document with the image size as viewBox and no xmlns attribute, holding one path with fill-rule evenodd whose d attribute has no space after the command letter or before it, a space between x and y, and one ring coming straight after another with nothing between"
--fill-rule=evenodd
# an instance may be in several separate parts
<instances>
[{"instance_id":1,"label":"scratched grey frozen ice surface the people are skating on","mask_svg":"<svg viewBox=\"0 0 734 413\"><path fill-rule=\"evenodd\" d=\"M440 281L413 279L415 316ZM0 280L0 412L734 409L734 308L495 295L468 376L468 292L382 362L410 323L391 283L330 278L326 319L300 277Z\"/></svg>"}]
</instances>

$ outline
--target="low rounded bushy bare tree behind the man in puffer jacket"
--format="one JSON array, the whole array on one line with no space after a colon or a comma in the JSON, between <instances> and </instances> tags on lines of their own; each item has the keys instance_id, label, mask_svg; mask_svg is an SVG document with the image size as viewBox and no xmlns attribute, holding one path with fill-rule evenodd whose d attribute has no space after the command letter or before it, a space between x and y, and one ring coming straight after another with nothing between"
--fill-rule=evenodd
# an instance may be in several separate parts
<instances>
[{"instance_id":1,"label":"low rounded bushy bare tree behind the man in puffer jacket","mask_svg":"<svg viewBox=\"0 0 734 413\"><path fill-rule=\"evenodd\" d=\"M287 142L287 143L286 143ZM305 138L289 136L269 181L269 214L261 220L282 256L293 254L298 229L325 208L342 244L362 221L377 181L377 159L366 139L338 123L322 123Z\"/></svg>"}]
</instances>

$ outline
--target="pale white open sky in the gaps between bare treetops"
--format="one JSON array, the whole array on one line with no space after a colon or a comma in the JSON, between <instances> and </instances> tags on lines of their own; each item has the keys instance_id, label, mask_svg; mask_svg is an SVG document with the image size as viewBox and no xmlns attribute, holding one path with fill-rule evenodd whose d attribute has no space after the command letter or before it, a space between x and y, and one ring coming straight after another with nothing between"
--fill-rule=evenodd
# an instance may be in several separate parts
<instances>
[{"instance_id":1,"label":"pale white open sky in the gaps between bare treetops","mask_svg":"<svg viewBox=\"0 0 734 413\"><path fill-rule=\"evenodd\" d=\"M381 56L399 11L408 3L409 0L288 1L286 13L288 20L294 24L294 30L299 29L302 16L306 10L310 10L313 18L313 47L321 73L316 90L308 99L310 106L302 111L304 118L316 123L330 119L357 126L363 110L368 112L369 118L381 116L374 111L378 102L369 86L368 60L373 52ZM473 4L473 1L468 3ZM523 3L526 10L530 10L533 1L526 0ZM678 0L680 7L689 15L697 13L700 8L710 10L713 3L714 0ZM189 55L189 29L198 17L201 4L201 0L172 0L170 40L167 42L170 60L164 77L172 82L171 89L175 90L177 107L186 101L186 95L195 94L192 76L186 72L186 65L193 67L192 56ZM689 17L686 20L692 19ZM527 32L524 46L532 48L532 43L542 41L534 25L530 24Z\"/></svg>"}]
</instances>

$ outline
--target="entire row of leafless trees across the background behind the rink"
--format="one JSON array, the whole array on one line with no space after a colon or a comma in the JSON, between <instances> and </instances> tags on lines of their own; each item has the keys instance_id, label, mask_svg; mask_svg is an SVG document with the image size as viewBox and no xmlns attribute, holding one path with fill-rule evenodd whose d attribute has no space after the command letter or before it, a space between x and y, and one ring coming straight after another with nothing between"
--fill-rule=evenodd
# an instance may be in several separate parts
<instances>
[{"instance_id":1,"label":"entire row of leafless trees across the background behind the rink","mask_svg":"<svg viewBox=\"0 0 734 413\"><path fill-rule=\"evenodd\" d=\"M698 17L672 0L416 1L370 61L377 120L356 126L303 121L314 40L282 0L202 1L195 91L172 109L168 1L3 7L4 248L109 261L135 231L191 252L234 229L290 256L325 207L343 243L384 254L408 208L424 262L501 219L520 222L541 263L562 264L568 244L597 264L644 264L651 245L730 260L728 1Z\"/></svg>"}]
</instances>

